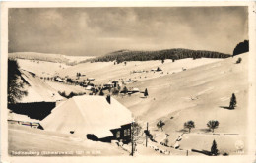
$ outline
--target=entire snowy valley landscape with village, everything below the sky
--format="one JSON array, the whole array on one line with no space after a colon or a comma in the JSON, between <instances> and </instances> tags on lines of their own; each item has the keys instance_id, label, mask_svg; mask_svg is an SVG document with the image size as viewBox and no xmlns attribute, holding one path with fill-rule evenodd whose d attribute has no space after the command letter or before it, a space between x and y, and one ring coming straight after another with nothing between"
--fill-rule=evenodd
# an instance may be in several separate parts
<instances>
[{"instance_id":1,"label":"entire snowy valley landscape with village, everything below the sky","mask_svg":"<svg viewBox=\"0 0 256 163\"><path fill-rule=\"evenodd\" d=\"M232 54L187 48L92 56L9 52L8 153L244 155L248 58L244 39Z\"/></svg>"}]
</instances>

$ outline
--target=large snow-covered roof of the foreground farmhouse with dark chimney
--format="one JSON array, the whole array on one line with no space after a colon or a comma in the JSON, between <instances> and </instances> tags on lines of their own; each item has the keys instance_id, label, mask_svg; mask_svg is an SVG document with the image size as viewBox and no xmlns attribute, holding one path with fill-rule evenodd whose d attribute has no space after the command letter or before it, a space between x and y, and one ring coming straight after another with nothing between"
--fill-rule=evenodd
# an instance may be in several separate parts
<instances>
[{"instance_id":1,"label":"large snow-covered roof of the foreground farmhouse with dark chimney","mask_svg":"<svg viewBox=\"0 0 256 163\"><path fill-rule=\"evenodd\" d=\"M132 113L111 97L110 104L104 96L75 96L52 110L40 123L45 130L98 138L113 136L111 129L133 121Z\"/></svg>"}]
</instances>

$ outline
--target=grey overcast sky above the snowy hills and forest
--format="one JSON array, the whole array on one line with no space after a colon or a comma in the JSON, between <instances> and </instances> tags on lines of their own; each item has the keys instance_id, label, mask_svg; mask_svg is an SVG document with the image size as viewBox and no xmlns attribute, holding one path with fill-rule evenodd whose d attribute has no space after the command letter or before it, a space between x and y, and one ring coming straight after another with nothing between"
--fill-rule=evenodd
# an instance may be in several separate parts
<instances>
[{"instance_id":1,"label":"grey overcast sky above the snowy hills and forest","mask_svg":"<svg viewBox=\"0 0 256 163\"><path fill-rule=\"evenodd\" d=\"M244 39L247 7L9 10L9 52L92 56L189 48L231 54Z\"/></svg>"}]
</instances>

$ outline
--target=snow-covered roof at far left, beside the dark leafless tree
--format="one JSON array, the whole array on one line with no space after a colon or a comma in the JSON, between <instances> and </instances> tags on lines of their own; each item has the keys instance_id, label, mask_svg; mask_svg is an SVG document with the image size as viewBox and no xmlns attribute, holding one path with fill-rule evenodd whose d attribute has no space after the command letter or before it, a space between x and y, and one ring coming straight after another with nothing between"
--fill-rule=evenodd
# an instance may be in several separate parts
<instances>
[{"instance_id":1,"label":"snow-covered roof at far left, beside the dark leafless tree","mask_svg":"<svg viewBox=\"0 0 256 163\"><path fill-rule=\"evenodd\" d=\"M25 86L28 95L24 96L19 102L55 102L63 99L56 90L41 81L38 77L33 77L29 72L24 70L20 70L20 72L22 78L29 85Z\"/></svg>"}]
</instances>

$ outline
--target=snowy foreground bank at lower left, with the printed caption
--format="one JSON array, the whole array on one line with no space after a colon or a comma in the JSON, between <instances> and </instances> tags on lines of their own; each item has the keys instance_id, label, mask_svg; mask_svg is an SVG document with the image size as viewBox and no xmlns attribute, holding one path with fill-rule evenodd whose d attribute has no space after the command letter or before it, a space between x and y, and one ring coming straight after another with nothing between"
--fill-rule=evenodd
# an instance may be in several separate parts
<instances>
[{"instance_id":1,"label":"snowy foreground bank at lower left, with the printed caption","mask_svg":"<svg viewBox=\"0 0 256 163\"><path fill-rule=\"evenodd\" d=\"M112 156L129 154L127 151L120 150L116 144L94 142L86 138L81 139L81 137L46 132L21 125L9 124L8 127L8 152L11 155L16 155L12 151L36 151L39 156ZM54 152L59 153L54 154ZM70 154L62 154L63 152L69 152Z\"/></svg>"}]
</instances>

